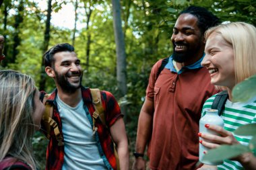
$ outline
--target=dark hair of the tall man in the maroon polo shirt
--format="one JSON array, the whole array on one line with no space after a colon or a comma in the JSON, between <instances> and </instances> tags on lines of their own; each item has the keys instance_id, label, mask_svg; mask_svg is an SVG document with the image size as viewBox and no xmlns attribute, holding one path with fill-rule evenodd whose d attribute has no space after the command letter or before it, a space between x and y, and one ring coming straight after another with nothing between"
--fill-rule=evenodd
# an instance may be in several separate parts
<instances>
[{"instance_id":1,"label":"dark hair of the tall man in the maroon polo shirt","mask_svg":"<svg viewBox=\"0 0 256 170\"><path fill-rule=\"evenodd\" d=\"M197 17L197 26L201 30L202 34L204 34L208 28L220 24L220 19L203 7L190 6L187 9L181 11L180 15L183 13L189 13Z\"/></svg>"}]
</instances>

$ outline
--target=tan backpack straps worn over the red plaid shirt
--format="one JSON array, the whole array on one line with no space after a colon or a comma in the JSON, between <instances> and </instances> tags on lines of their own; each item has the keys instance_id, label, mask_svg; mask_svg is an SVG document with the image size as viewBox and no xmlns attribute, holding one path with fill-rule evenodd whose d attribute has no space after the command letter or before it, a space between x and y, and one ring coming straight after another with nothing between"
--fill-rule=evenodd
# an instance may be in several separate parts
<instances>
[{"instance_id":1,"label":"tan backpack straps worn over the red plaid shirt","mask_svg":"<svg viewBox=\"0 0 256 170\"><path fill-rule=\"evenodd\" d=\"M94 113L92 114L92 125L93 125L93 131L94 133L97 131L97 127L95 126L95 122L97 119L100 120L100 122L109 130L108 126L106 125L106 118L105 118L105 112L102 107L102 101L101 101L101 95L100 95L100 89L90 89L91 95L92 95L92 103L94 105ZM44 124L44 134L46 138L50 138L51 136L51 128L54 129L55 137L58 141L58 146L63 146L63 137L61 136L61 133L59 131L58 124L55 122L55 120L52 119L53 117L53 105L51 103L46 102L47 98L49 97L49 94L44 95L44 99L42 99L42 103L45 105L45 111L42 116L42 124ZM114 153L115 158L117 162L117 170L120 169L119 165L119 156L117 154L117 147L115 145L115 142L111 138L114 146Z\"/></svg>"}]
</instances>

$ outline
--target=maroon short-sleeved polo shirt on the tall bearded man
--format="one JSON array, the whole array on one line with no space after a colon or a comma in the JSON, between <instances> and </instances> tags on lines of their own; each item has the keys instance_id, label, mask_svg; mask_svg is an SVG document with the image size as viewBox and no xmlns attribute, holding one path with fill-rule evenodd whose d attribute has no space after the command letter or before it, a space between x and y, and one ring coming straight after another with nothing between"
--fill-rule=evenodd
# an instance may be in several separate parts
<instances>
[{"instance_id":1,"label":"maroon short-sleeved polo shirt on the tall bearded man","mask_svg":"<svg viewBox=\"0 0 256 170\"><path fill-rule=\"evenodd\" d=\"M199 119L207 98L218 91L207 69L187 69L181 74L164 69L162 60L150 74L147 99L154 100L152 139L148 149L152 170L195 169L198 161Z\"/></svg>"}]
</instances>

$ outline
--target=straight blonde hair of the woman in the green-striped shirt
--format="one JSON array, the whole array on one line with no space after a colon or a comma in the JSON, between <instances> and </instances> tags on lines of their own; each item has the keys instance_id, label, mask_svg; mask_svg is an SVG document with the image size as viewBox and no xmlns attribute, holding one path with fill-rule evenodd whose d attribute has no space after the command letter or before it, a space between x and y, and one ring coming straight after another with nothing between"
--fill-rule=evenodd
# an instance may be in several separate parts
<instances>
[{"instance_id":1,"label":"straight blonde hair of the woman in the green-striped shirt","mask_svg":"<svg viewBox=\"0 0 256 170\"><path fill-rule=\"evenodd\" d=\"M245 22L232 22L210 28L205 39L212 33L219 34L234 51L235 82L239 83L256 74L256 28Z\"/></svg>"}]
</instances>

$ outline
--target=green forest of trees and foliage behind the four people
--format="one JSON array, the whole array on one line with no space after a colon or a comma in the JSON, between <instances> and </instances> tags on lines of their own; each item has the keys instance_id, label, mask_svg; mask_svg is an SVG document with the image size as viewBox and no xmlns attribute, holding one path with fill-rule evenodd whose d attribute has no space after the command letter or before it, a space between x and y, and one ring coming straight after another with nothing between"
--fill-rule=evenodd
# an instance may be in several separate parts
<instances>
[{"instance_id":1,"label":"green forest of trees and foliage behind the four people","mask_svg":"<svg viewBox=\"0 0 256 170\"><path fill-rule=\"evenodd\" d=\"M150 70L157 60L172 54L170 36L179 12L197 5L222 22L256 25L254 0L48 0L46 9L39 1L0 1L0 34L5 37L3 54L7 56L0 69L26 73L40 90L51 93L55 84L44 73L42 54L55 44L72 44L84 69L82 85L110 91L119 101L131 153ZM70 4L73 26L54 25L52 15ZM47 142L36 133L33 146L38 169L44 169Z\"/></svg>"}]
</instances>

